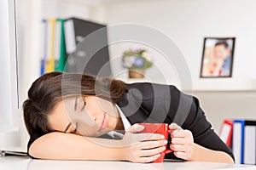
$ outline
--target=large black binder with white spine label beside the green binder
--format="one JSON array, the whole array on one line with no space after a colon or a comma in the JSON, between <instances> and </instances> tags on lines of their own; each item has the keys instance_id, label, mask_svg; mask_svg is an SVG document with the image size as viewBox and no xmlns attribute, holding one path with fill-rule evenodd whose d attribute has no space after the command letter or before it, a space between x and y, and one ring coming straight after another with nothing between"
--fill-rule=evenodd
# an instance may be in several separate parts
<instances>
[{"instance_id":1,"label":"large black binder with white spine label beside the green binder","mask_svg":"<svg viewBox=\"0 0 256 170\"><path fill-rule=\"evenodd\" d=\"M69 18L65 20L64 28L68 72L89 73L100 77L112 75L107 26L89 20Z\"/></svg>"}]
</instances>

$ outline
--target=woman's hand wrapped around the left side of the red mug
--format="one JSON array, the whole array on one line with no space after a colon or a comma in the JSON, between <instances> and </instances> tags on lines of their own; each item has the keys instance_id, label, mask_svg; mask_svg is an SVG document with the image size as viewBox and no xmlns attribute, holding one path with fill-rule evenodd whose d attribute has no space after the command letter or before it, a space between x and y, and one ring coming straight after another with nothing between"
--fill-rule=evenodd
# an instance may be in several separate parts
<instances>
[{"instance_id":1,"label":"woman's hand wrapped around the left side of the red mug","mask_svg":"<svg viewBox=\"0 0 256 170\"><path fill-rule=\"evenodd\" d=\"M125 161L146 163L156 160L167 144L164 135L158 133L139 133L143 126L134 124L126 131L122 142L122 155Z\"/></svg>"}]
</instances>

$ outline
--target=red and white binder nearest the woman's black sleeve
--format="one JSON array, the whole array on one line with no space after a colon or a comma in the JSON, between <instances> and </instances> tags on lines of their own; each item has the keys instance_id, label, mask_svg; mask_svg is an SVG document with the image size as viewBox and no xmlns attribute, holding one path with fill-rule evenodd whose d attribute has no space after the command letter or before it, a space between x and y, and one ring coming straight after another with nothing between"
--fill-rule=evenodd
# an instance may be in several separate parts
<instances>
[{"instance_id":1,"label":"red and white binder nearest the woman's black sleeve","mask_svg":"<svg viewBox=\"0 0 256 170\"><path fill-rule=\"evenodd\" d=\"M231 148L231 137L233 130L233 121L229 119L224 119L222 126L220 127L219 138L224 141L224 143Z\"/></svg>"}]
</instances>

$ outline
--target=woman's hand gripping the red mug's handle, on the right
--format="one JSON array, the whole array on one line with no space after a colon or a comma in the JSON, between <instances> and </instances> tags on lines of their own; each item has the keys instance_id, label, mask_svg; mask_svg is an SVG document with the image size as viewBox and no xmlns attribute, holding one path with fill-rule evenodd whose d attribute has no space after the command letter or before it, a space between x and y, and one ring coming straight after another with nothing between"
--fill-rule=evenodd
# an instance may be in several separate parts
<instances>
[{"instance_id":1,"label":"woman's hand gripping the red mug's handle, on the right","mask_svg":"<svg viewBox=\"0 0 256 170\"><path fill-rule=\"evenodd\" d=\"M183 130L176 123L169 125L171 130L170 148L174 155L183 160L191 161L193 159L194 139L189 130Z\"/></svg>"}]
</instances>

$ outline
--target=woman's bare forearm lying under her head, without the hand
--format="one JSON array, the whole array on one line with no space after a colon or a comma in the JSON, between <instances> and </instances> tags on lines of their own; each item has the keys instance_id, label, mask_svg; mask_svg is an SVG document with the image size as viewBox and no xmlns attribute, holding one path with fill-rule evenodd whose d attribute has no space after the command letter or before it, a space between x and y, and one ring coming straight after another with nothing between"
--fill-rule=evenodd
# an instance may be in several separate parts
<instances>
[{"instance_id":1,"label":"woman's bare forearm lying under her head, without the hand","mask_svg":"<svg viewBox=\"0 0 256 170\"><path fill-rule=\"evenodd\" d=\"M29 153L39 159L123 161L119 140L89 139L67 133L49 133L37 139Z\"/></svg>"}]
</instances>

